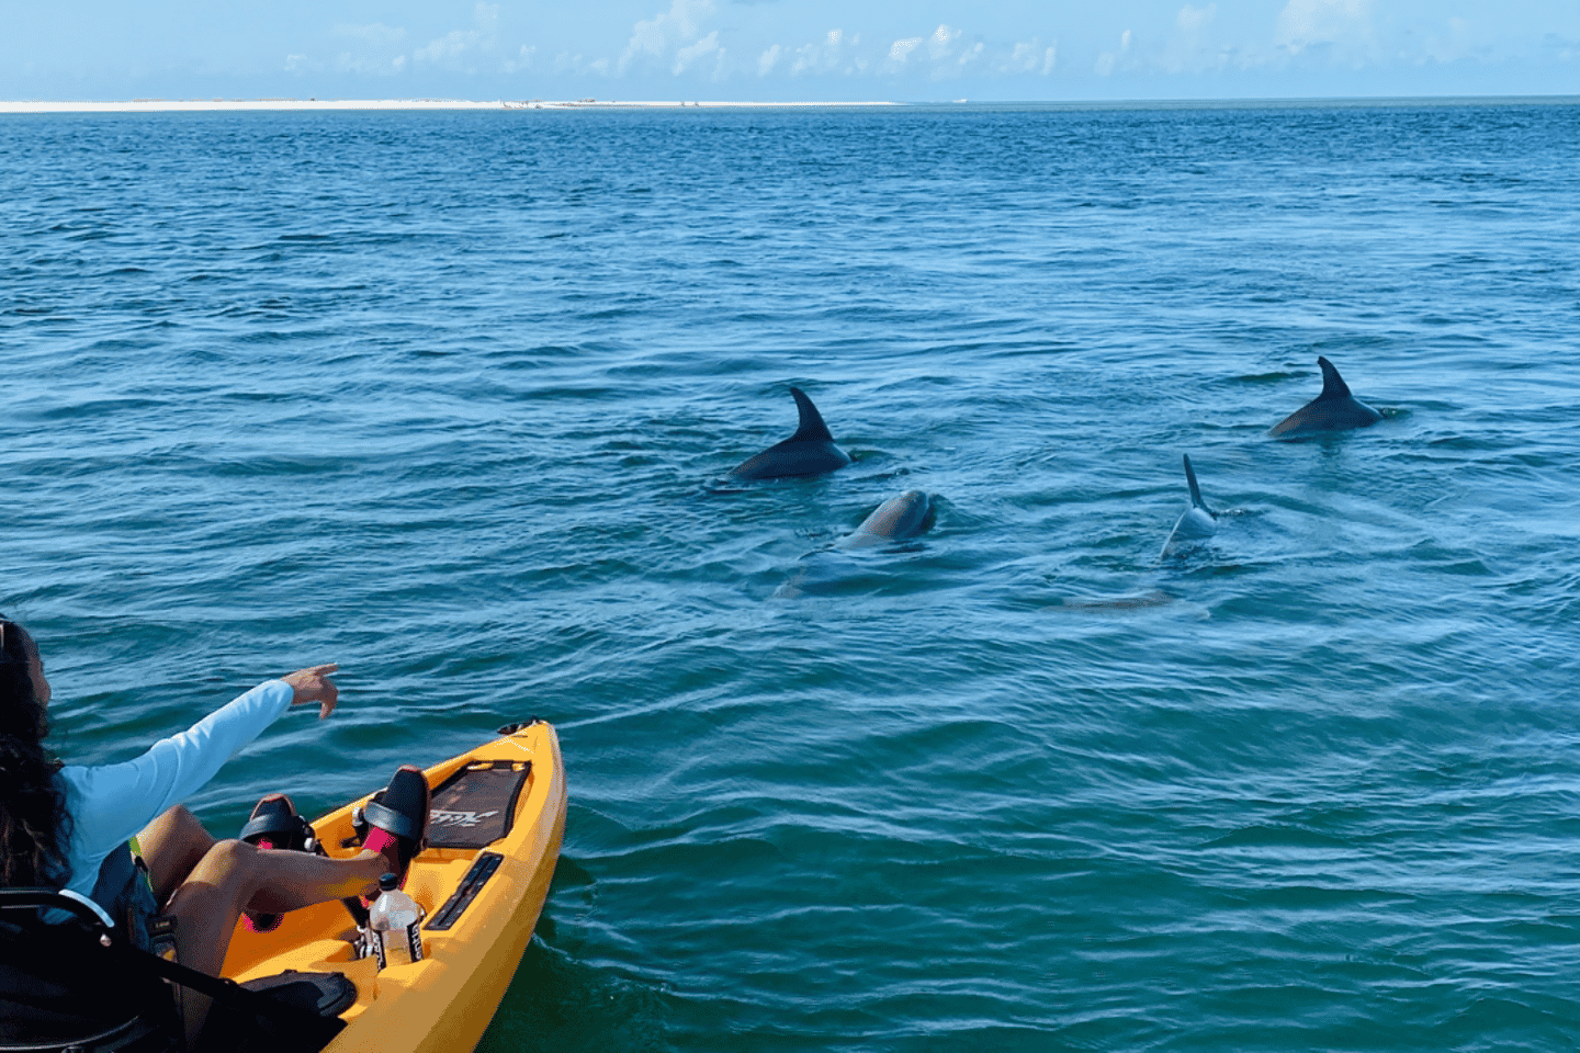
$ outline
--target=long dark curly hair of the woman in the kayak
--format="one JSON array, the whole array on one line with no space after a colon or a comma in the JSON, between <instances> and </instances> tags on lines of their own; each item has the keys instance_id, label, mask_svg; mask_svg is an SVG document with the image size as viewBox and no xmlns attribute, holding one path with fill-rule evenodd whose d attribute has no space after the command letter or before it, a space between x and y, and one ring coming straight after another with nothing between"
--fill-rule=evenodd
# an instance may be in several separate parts
<instances>
[{"instance_id":1,"label":"long dark curly hair of the woman in the kayak","mask_svg":"<svg viewBox=\"0 0 1580 1053\"><path fill-rule=\"evenodd\" d=\"M38 649L27 630L0 616L0 886L60 886L71 818L44 748L49 715L33 688Z\"/></svg>"}]
</instances>

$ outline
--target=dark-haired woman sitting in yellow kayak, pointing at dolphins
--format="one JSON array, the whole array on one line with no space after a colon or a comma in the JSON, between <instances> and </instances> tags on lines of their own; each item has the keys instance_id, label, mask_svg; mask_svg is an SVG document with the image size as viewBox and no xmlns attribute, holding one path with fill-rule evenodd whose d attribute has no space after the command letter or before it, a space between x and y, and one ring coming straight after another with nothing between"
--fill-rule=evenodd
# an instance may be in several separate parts
<instances>
[{"instance_id":1,"label":"dark-haired woman sitting in yellow kayak, pointing at dolphins","mask_svg":"<svg viewBox=\"0 0 1580 1053\"><path fill-rule=\"evenodd\" d=\"M368 807L363 849L351 859L264 851L215 840L183 800L292 706L335 709L333 665L267 680L163 739L139 758L84 767L44 748L49 680L33 638L0 617L0 849L6 887L46 886L103 906L130 941L152 942L155 916L175 919L182 965L218 976L243 911L284 912L356 895L376 895L379 876L404 876L420 849L428 785L404 766ZM289 800L265 797L265 807ZM292 810L294 818L294 810ZM185 991L188 1045L209 999Z\"/></svg>"}]
</instances>

